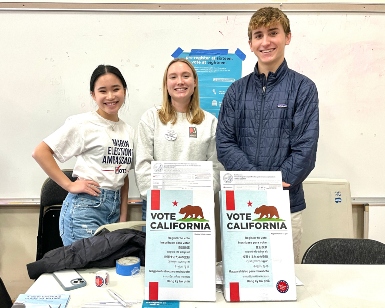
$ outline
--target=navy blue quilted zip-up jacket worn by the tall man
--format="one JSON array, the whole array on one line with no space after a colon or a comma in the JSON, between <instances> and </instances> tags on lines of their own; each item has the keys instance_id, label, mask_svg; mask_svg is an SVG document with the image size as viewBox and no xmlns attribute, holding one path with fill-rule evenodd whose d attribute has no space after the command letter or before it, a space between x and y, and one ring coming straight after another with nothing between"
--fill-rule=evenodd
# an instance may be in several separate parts
<instances>
[{"instance_id":1,"label":"navy blue quilted zip-up jacket worn by the tall man","mask_svg":"<svg viewBox=\"0 0 385 308\"><path fill-rule=\"evenodd\" d=\"M318 92L313 81L288 68L254 72L227 90L216 132L226 170L281 171L290 184L292 213L306 208L302 182L315 166L319 136Z\"/></svg>"}]
</instances>

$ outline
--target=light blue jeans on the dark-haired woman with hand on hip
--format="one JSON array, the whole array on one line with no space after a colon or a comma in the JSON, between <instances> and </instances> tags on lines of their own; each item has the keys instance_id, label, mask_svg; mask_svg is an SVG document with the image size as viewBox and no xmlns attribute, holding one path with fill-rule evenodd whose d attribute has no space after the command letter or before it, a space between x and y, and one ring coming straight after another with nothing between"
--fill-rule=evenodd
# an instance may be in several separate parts
<instances>
[{"instance_id":1,"label":"light blue jeans on the dark-haired woman with hand on hip","mask_svg":"<svg viewBox=\"0 0 385 308\"><path fill-rule=\"evenodd\" d=\"M60 236L64 246L92 236L101 225L119 221L120 190L100 191L99 196L68 193L59 219Z\"/></svg>"}]
</instances>

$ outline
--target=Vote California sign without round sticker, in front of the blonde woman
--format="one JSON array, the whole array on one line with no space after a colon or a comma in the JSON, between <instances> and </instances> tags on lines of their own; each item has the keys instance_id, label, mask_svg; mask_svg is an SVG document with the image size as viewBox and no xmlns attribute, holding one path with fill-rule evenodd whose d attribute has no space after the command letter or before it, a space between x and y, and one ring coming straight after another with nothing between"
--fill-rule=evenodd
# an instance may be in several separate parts
<instances>
[{"instance_id":1,"label":"Vote California sign without round sticker, in front of the blonde woman","mask_svg":"<svg viewBox=\"0 0 385 308\"><path fill-rule=\"evenodd\" d=\"M147 194L146 300L215 301L214 193Z\"/></svg>"}]
</instances>

